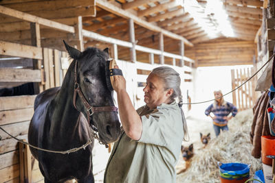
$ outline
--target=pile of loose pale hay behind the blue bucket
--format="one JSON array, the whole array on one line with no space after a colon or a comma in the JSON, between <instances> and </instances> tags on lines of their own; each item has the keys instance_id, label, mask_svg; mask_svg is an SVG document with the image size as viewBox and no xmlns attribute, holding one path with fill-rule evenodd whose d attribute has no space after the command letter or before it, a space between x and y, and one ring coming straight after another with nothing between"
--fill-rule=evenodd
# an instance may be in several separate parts
<instances>
[{"instance_id":1,"label":"pile of loose pale hay behind the blue bucket","mask_svg":"<svg viewBox=\"0 0 275 183\"><path fill-rule=\"evenodd\" d=\"M217 162L242 162L251 164L250 176L262 169L261 159L251 156L250 130L252 110L239 112L229 121L228 132L212 138L205 149L195 150L186 172L177 175L177 182L220 182Z\"/></svg>"}]
</instances>

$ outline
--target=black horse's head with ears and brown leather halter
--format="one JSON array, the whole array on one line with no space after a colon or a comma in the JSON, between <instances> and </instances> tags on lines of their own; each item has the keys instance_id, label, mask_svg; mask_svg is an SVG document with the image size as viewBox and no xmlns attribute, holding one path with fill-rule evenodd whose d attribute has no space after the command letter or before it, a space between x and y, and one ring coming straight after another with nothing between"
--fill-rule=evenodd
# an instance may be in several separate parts
<instances>
[{"instance_id":1,"label":"black horse's head with ears and brown leather halter","mask_svg":"<svg viewBox=\"0 0 275 183\"><path fill-rule=\"evenodd\" d=\"M76 65L74 71L74 105L85 114L92 127L96 127L101 140L115 141L120 135L120 121L113 103L113 93L107 88L105 66L108 49L101 51L89 47L81 52L65 43ZM81 96L83 95L83 96Z\"/></svg>"}]
</instances>

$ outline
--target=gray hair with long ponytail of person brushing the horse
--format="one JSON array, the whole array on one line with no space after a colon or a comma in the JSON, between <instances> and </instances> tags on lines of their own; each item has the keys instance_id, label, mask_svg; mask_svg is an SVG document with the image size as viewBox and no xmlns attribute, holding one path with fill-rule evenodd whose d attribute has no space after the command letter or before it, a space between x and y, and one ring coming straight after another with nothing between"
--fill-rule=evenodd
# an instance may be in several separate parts
<instances>
[{"instance_id":1,"label":"gray hair with long ponytail of person brushing the horse","mask_svg":"<svg viewBox=\"0 0 275 183\"><path fill-rule=\"evenodd\" d=\"M179 108L183 105L182 95L181 95L181 78L179 77L179 73L169 66L159 66L151 72L157 75L164 82L164 89L168 90L169 88L173 88L174 92L170 96L171 100L174 100L176 97L179 99ZM189 141L188 128L186 124L186 119L184 117L184 111L181 108L181 119L184 125L184 141Z\"/></svg>"}]
</instances>

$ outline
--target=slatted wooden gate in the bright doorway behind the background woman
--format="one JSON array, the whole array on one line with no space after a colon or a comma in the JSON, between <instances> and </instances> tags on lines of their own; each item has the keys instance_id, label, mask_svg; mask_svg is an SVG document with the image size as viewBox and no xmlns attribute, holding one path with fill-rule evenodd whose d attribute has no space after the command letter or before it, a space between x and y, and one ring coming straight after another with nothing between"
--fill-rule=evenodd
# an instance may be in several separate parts
<instances>
[{"instance_id":1,"label":"slatted wooden gate in the bright doorway behind the background woman","mask_svg":"<svg viewBox=\"0 0 275 183\"><path fill-rule=\"evenodd\" d=\"M242 69L232 69L232 90L241 86L245 81L247 81L251 75L255 73L253 68L242 68ZM241 88L235 90L232 93L232 101L234 106L238 108L239 111L247 110L253 108L256 103L257 94L255 92L256 77L246 82Z\"/></svg>"}]
</instances>

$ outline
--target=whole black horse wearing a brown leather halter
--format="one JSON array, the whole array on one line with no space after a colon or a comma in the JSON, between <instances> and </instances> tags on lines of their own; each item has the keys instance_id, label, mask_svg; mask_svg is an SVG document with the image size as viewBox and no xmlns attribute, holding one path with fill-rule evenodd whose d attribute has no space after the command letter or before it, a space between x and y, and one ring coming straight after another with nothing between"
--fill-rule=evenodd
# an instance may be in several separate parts
<instances>
[{"instance_id":1,"label":"whole black horse wearing a brown leather halter","mask_svg":"<svg viewBox=\"0 0 275 183\"><path fill-rule=\"evenodd\" d=\"M65 182L73 178L78 183L94 182L92 132L98 131L100 141L105 144L120 135L118 109L113 105L105 75L109 53L108 49L96 48L81 52L66 43L65 47L74 61L61 88L50 88L37 95L28 141L52 151L66 151L91 141L85 149L69 154L30 150L39 160L45 182Z\"/></svg>"}]
</instances>

